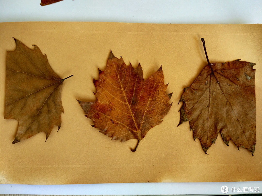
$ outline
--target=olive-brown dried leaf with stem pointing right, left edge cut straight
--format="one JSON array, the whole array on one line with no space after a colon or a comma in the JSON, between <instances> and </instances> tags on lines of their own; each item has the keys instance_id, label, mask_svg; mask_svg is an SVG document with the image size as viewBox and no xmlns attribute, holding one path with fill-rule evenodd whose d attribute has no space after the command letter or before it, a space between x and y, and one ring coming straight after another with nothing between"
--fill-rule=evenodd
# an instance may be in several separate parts
<instances>
[{"instance_id":1,"label":"olive-brown dried leaf with stem pointing right, left edge cut straight","mask_svg":"<svg viewBox=\"0 0 262 196\"><path fill-rule=\"evenodd\" d=\"M54 126L61 126L61 90L67 78L52 70L36 45L30 49L14 40L15 50L6 54L4 119L18 120L13 144L42 131L47 140Z\"/></svg>"}]
</instances>

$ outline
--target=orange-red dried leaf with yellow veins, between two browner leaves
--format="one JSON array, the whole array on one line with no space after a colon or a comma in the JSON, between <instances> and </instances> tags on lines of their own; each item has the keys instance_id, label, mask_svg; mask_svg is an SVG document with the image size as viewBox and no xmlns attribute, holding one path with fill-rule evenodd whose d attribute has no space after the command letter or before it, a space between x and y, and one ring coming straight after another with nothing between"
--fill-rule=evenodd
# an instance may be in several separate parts
<instances>
[{"instance_id":1,"label":"orange-red dried leaf with yellow veins, between two browner leaves","mask_svg":"<svg viewBox=\"0 0 262 196\"><path fill-rule=\"evenodd\" d=\"M137 139L137 146L146 133L162 122L171 104L171 94L165 93L162 67L144 80L142 67L125 65L110 52L105 71L99 70L96 102L78 101L86 117L94 121L101 133L121 142ZM137 149L131 149L135 151Z\"/></svg>"}]
</instances>

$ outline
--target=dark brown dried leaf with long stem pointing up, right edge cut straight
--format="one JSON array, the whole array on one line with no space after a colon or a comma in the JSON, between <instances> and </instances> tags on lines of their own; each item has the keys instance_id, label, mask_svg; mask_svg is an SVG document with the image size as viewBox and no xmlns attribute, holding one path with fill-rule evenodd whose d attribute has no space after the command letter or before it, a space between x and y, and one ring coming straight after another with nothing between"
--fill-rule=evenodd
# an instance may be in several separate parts
<instances>
[{"instance_id":1,"label":"dark brown dried leaf with long stem pointing up, right edge cut straight","mask_svg":"<svg viewBox=\"0 0 262 196\"><path fill-rule=\"evenodd\" d=\"M204 152L221 133L228 146L252 152L256 143L255 63L235 60L209 63L204 39L201 38L208 65L192 85L184 89L179 101L180 122L189 120L194 140L199 138Z\"/></svg>"}]
</instances>

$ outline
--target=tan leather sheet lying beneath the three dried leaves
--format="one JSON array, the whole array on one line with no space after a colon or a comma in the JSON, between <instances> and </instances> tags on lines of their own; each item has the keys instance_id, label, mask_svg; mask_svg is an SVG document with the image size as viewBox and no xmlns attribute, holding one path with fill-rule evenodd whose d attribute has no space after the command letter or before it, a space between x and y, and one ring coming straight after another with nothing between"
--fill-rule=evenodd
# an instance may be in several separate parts
<instances>
[{"instance_id":1,"label":"tan leather sheet lying beneath the three dried leaves","mask_svg":"<svg viewBox=\"0 0 262 196\"><path fill-rule=\"evenodd\" d=\"M53 70L65 78L62 126L45 142L39 133L12 144L18 122L4 118L6 51L13 38L30 48L37 45ZM236 59L256 63L256 150L229 147L221 135L206 155L194 142L189 123L179 122L177 105L207 65L200 38L206 41L210 62ZM144 78L162 65L173 105L160 125L137 141L112 141L90 126L76 99L95 101L92 78L98 79L112 50L133 67L140 62ZM174 25L102 22L0 23L0 182L18 184L81 184L123 182L220 182L262 180L262 25Z\"/></svg>"}]
</instances>

